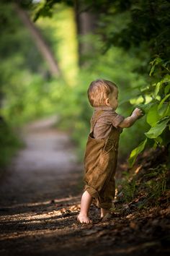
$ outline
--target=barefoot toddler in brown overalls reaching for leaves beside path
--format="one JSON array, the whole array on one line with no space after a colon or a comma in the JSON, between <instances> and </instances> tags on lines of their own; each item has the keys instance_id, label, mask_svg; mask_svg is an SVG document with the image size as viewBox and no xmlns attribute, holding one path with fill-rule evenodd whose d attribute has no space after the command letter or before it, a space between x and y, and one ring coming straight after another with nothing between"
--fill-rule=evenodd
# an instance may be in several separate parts
<instances>
[{"instance_id":1,"label":"barefoot toddler in brown overalls reaching for leaves beside path","mask_svg":"<svg viewBox=\"0 0 170 256\"><path fill-rule=\"evenodd\" d=\"M94 114L84 155L85 187L77 216L80 223L91 223L89 208L93 199L101 208L101 218L109 213L115 198L120 133L122 128L131 127L143 115L140 108L135 108L127 118L117 114L118 93L117 85L108 80L95 80L89 85L88 98Z\"/></svg>"}]
</instances>

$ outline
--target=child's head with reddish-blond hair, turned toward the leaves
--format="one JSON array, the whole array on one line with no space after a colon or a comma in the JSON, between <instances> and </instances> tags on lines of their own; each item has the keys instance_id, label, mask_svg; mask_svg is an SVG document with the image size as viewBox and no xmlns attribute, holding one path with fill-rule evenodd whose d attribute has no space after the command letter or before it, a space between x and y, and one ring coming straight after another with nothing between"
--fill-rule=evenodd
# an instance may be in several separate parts
<instances>
[{"instance_id":1,"label":"child's head with reddish-blond hair, turned toward the leaves","mask_svg":"<svg viewBox=\"0 0 170 256\"><path fill-rule=\"evenodd\" d=\"M87 91L89 103L93 107L97 106L112 106L117 108L117 85L108 80L95 80L89 85Z\"/></svg>"}]
</instances>

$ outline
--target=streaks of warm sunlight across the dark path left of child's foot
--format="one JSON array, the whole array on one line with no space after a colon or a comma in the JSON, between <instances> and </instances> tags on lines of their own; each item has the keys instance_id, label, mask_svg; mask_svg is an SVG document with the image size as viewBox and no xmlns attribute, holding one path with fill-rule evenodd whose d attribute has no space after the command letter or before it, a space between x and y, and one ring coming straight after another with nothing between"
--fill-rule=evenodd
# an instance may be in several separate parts
<instances>
[{"instance_id":1,"label":"streaks of warm sunlight across the dark path left of child's foot","mask_svg":"<svg viewBox=\"0 0 170 256\"><path fill-rule=\"evenodd\" d=\"M35 234L48 234L49 236L49 230L53 235L53 230L63 229L65 222L67 222L68 228L71 228L80 208L80 205L73 205L73 200L76 202L80 198L66 197L61 200L53 200L53 202L24 203L6 208L9 213L1 218L1 240L16 239L16 232L17 238ZM66 204L65 208L63 208L64 203ZM8 226L7 229L4 229L6 223ZM15 229L13 229L14 226Z\"/></svg>"}]
</instances>

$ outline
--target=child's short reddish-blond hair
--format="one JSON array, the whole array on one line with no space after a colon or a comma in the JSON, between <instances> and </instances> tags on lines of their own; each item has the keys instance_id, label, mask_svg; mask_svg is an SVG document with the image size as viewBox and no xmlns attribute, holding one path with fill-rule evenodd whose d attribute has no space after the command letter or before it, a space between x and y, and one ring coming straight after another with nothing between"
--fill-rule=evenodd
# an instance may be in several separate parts
<instances>
[{"instance_id":1,"label":"child's short reddish-blond hair","mask_svg":"<svg viewBox=\"0 0 170 256\"><path fill-rule=\"evenodd\" d=\"M91 106L104 106L105 100L108 98L109 94L114 92L114 89L117 88L115 83L98 79L89 85L89 89L87 90L89 103Z\"/></svg>"}]
</instances>

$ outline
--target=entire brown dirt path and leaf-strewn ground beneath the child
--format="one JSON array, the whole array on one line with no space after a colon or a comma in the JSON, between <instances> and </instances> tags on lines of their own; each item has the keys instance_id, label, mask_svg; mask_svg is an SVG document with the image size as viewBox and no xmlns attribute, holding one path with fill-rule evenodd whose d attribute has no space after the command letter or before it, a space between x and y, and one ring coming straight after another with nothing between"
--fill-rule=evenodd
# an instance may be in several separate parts
<instances>
[{"instance_id":1,"label":"entire brown dirt path and leaf-strewn ground beneath the child","mask_svg":"<svg viewBox=\"0 0 170 256\"><path fill-rule=\"evenodd\" d=\"M117 205L107 220L76 221L83 166L55 116L22 129L25 147L0 181L0 255L169 255L169 207ZM119 206L119 207L118 207Z\"/></svg>"}]
</instances>

